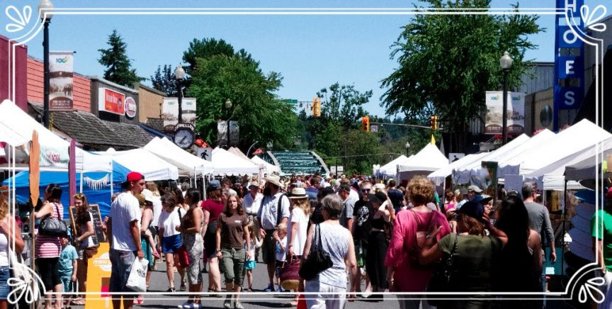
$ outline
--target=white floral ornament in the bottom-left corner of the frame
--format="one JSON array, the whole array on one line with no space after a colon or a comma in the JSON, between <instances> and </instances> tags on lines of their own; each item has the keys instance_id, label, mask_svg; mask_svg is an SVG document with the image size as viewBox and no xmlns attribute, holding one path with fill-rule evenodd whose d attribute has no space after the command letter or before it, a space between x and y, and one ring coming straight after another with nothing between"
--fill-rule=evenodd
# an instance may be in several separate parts
<instances>
[{"instance_id":1,"label":"white floral ornament in the bottom-left corner of the frame","mask_svg":"<svg viewBox=\"0 0 612 309\"><path fill-rule=\"evenodd\" d=\"M44 288L40 276L25 264L16 263L10 267L13 277L8 279L11 292L8 293L8 303L14 305L23 298L25 303L34 303L41 298L40 287Z\"/></svg>"}]
</instances>

